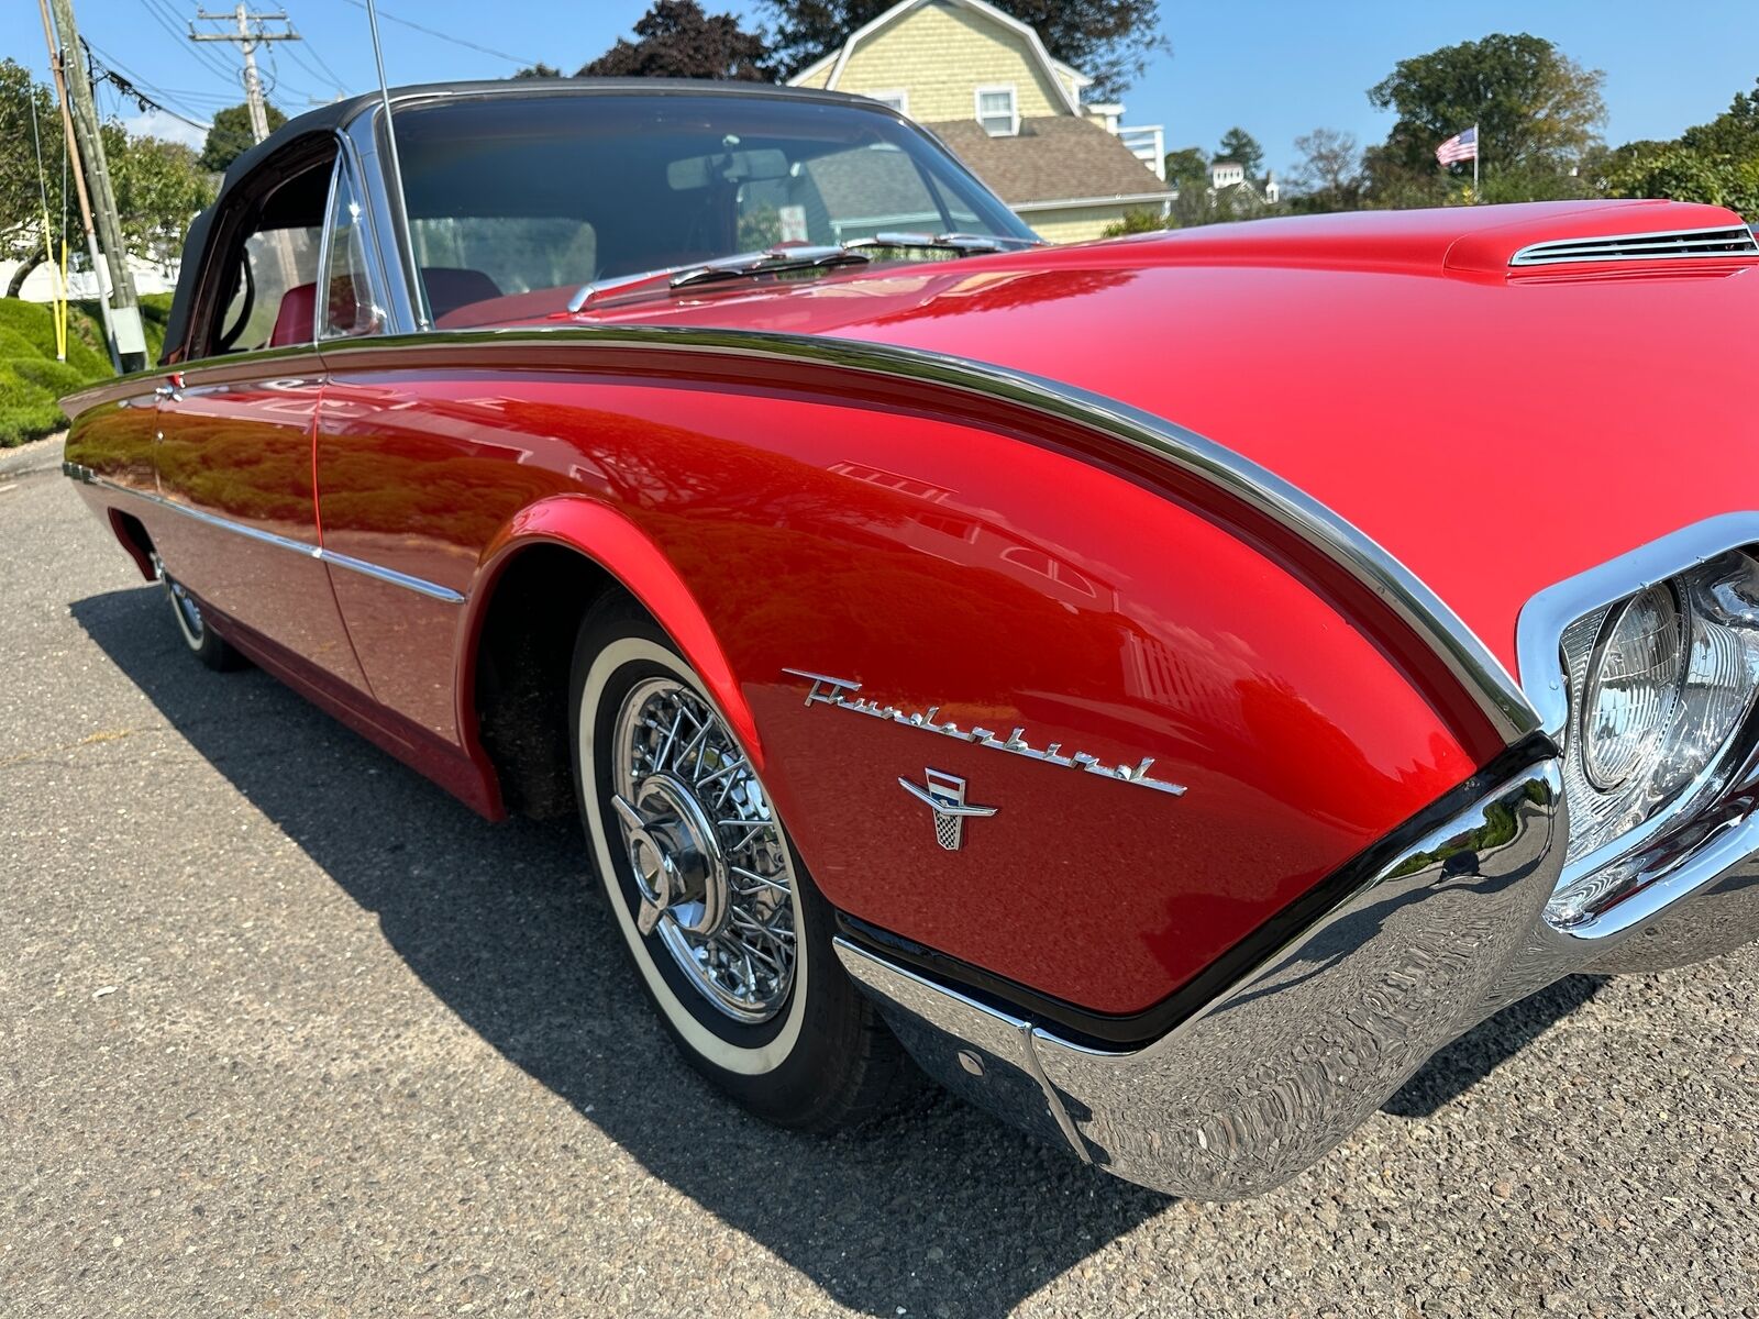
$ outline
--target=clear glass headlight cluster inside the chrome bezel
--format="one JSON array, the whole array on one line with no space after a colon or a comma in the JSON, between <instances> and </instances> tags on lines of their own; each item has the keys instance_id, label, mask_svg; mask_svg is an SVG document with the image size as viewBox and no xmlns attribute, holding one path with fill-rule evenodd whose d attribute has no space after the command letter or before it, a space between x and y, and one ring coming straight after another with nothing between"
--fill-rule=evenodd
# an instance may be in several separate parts
<instances>
[{"instance_id":1,"label":"clear glass headlight cluster inside the chrome bezel","mask_svg":"<svg viewBox=\"0 0 1759 1319\"><path fill-rule=\"evenodd\" d=\"M1578 619L1564 661L1571 830L1548 915L1573 923L1738 769L1759 691L1759 561L1720 554Z\"/></svg>"}]
</instances>

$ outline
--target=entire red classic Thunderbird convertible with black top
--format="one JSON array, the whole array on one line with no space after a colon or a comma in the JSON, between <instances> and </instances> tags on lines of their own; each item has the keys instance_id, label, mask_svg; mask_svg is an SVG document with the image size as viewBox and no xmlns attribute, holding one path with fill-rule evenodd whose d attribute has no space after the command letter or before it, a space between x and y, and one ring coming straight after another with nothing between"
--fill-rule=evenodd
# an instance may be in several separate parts
<instances>
[{"instance_id":1,"label":"entire red classic Thunderbird convertible with black top","mask_svg":"<svg viewBox=\"0 0 1759 1319\"><path fill-rule=\"evenodd\" d=\"M913 1057L1242 1196L1759 932L1755 266L1673 202L1048 248L860 98L410 88L229 171L65 470L209 667L579 809L753 1111Z\"/></svg>"}]
</instances>

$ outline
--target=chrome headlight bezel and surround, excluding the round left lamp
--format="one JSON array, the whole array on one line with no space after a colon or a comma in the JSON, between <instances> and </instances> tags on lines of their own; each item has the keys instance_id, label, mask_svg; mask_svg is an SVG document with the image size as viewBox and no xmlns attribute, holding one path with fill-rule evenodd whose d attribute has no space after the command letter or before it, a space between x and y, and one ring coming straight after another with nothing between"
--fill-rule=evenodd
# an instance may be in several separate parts
<instances>
[{"instance_id":1,"label":"chrome headlight bezel and surround, excluding the round left lamp","mask_svg":"<svg viewBox=\"0 0 1759 1319\"><path fill-rule=\"evenodd\" d=\"M1740 579L1733 586L1722 580L1731 570ZM1668 593L1678 616L1678 698L1657 719L1664 740L1646 747L1608 790L1595 783L1585 756L1595 665L1622 616L1655 589ZM1553 925L1571 927L1668 872L1680 860L1669 851L1673 834L1752 777L1759 740L1759 514L1701 522L1539 593L1522 612L1518 652L1529 698L1562 753L1569 844L1546 915ZM1738 667L1733 679L1731 665ZM1706 703L1704 693L1720 691L1715 682L1722 679L1736 684L1738 698ZM1710 718L1699 718L1704 711Z\"/></svg>"}]
</instances>

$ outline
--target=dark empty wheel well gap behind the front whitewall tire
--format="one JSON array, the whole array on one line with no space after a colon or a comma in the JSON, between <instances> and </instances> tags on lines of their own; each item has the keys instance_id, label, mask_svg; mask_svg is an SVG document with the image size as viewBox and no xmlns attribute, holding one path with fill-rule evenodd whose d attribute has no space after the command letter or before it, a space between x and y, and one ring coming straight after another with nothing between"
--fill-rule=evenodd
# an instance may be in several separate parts
<instances>
[{"instance_id":1,"label":"dark empty wheel well gap behind the front whitewall tire","mask_svg":"<svg viewBox=\"0 0 1759 1319\"><path fill-rule=\"evenodd\" d=\"M510 813L573 813L568 679L580 619L621 584L572 549L533 545L501 570L475 649L477 733Z\"/></svg>"}]
</instances>

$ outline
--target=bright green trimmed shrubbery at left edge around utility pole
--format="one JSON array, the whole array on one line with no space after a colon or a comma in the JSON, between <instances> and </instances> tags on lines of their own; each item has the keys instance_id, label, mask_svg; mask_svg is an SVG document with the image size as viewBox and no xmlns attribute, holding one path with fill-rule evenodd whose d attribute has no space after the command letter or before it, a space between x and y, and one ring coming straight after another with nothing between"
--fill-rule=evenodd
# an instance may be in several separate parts
<instances>
[{"instance_id":1,"label":"bright green trimmed shrubbery at left edge around utility pole","mask_svg":"<svg viewBox=\"0 0 1759 1319\"><path fill-rule=\"evenodd\" d=\"M171 294L141 299L146 357L158 361ZM67 317L67 361L55 357L55 320L42 302L0 297L0 448L67 426L58 399L111 376L97 302L74 302Z\"/></svg>"}]
</instances>

